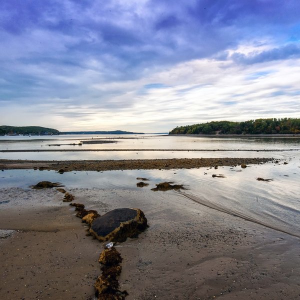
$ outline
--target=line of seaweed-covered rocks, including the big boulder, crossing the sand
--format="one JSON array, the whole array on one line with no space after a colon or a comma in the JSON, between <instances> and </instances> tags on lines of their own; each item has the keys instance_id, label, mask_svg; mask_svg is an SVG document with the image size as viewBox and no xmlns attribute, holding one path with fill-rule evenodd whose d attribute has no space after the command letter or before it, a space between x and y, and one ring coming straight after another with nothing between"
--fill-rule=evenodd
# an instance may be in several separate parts
<instances>
[{"instance_id":1,"label":"line of seaweed-covered rocks, including the big boulder, crossing the sand","mask_svg":"<svg viewBox=\"0 0 300 300\"><path fill-rule=\"evenodd\" d=\"M52 188L64 194L63 202L71 202L74 196L68 193L58 182L40 181L32 188ZM84 204L71 202L76 216L88 225L87 235L99 241L111 242L104 246L99 256L101 275L94 283L95 295L99 300L124 300L126 290L119 290L118 277L121 272L122 257L113 246L115 242L123 242L127 237L136 237L147 228L147 219L138 208L117 208L100 216L96 210L85 209Z\"/></svg>"}]
</instances>

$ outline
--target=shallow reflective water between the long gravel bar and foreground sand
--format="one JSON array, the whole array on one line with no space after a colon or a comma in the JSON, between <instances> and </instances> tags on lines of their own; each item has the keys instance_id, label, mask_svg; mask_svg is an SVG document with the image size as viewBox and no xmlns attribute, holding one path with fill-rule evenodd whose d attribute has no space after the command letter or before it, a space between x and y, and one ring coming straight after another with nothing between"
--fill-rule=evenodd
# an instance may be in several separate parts
<instances>
[{"instance_id":1,"label":"shallow reflective water between the long gravel bar and foreground sand","mask_svg":"<svg viewBox=\"0 0 300 300\"><path fill-rule=\"evenodd\" d=\"M214 168L172 170L114 170L71 171L59 174L54 171L4 170L0 173L0 187L28 188L40 180L61 182L67 188L129 189L150 191L155 183L174 181L187 188L181 192L191 201L244 219L264 224L283 232L300 235L300 180L299 157L289 157L288 164L266 163ZM224 177L212 177L222 174ZM146 187L137 187L136 177L146 177ZM256 178L272 181L258 181ZM100 192L100 190L99 190ZM173 193L174 191L167 191ZM153 200L155 197L153 197Z\"/></svg>"}]
</instances>

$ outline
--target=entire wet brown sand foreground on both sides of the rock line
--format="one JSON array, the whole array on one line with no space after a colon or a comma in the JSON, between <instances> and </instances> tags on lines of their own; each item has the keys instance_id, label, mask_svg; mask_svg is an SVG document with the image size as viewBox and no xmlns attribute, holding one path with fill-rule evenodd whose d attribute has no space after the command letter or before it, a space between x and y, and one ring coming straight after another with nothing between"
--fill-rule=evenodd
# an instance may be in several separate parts
<instances>
[{"instance_id":1,"label":"entire wet brown sand foreground on both sides of the rock line","mask_svg":"<svg viewBox=\"0 0 300 300\"><path fill-rule=\"evenodd\" d=\"M297 237L173 190L65 188L99 214L138 207L147 217L149 227L138 238L116 244L128 300L300 297ZM1 188L0 197L1 299L93 299L103 243L86 236L63 194ZM12 207L5 203L11 199Z\"/></svg>"}]
</instances>

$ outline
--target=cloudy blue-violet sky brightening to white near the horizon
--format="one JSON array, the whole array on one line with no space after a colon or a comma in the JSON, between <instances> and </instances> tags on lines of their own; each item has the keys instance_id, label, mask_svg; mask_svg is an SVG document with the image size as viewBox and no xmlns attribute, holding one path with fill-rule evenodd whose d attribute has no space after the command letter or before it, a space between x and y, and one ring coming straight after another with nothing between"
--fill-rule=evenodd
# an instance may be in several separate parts
<instances>
[{"instance_id":1,"label":"cloudy blue-violet sky brightening to white near the horizon","mask_svg":"<svg viewBox=\"0 0 300 300\"><path fill-rule=\"evenodd\" d=\"M0 125L300 117L299 0L0 0Z\"/></svg>"}]
</instances>

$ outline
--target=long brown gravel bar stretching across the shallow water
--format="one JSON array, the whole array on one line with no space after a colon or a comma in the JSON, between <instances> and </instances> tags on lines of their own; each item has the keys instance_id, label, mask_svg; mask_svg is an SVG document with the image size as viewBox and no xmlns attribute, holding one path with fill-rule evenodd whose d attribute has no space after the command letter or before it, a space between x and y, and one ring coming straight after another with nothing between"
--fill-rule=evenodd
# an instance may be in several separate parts
<instances>
[{"instance_id":1,"label":"long brown gravel bar stretching across the shallow water","mask_svg":"<svg viewBox=\"0 0 300 300\"><path fill-rule=\"evenodd\" d=\"M122 159L122 160L21 160L0 159L0 169L32 169L65 171L104 171L121 169L173 169L196 168L220 165L256 164L273 158L169 158L169 159Z\"/></svg>"}]
</instances>

